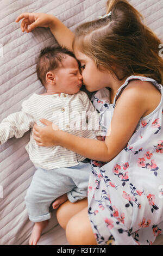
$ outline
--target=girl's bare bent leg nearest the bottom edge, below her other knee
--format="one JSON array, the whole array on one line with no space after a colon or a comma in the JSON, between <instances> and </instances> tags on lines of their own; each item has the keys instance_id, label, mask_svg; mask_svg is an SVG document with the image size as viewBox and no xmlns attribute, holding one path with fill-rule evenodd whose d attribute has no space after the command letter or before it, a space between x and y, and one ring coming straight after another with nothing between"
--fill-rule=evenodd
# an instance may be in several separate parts
<instances>
[{"instance_id":1,"label":"girl's bare bent leg nearest the bottom edge, below her other knee","mask_svg":"<svg viewBox=\"0 0 163 256\"><path fill-rule=\"evenodd\" d=\"M66 225L66 237L70 245L97 245L87 207L74 215Z\"/></svg>"}]
</instances>

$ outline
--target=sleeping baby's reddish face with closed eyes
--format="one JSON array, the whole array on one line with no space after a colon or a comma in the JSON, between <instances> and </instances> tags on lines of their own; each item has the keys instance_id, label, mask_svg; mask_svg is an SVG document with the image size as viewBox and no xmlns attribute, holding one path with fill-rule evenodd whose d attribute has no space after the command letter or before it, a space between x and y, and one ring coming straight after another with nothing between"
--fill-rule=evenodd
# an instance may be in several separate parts
<instances>
[{"instance_id":1,"label":"sleeping baby's reddish face with closed eyes","mask_svg":"<svg viewBox=\"0 0 163 256\"><path fill-rule=\"evenodd\" d=\"M62 60L59 69L55 72L55 88L60 93L76 94L83 84L83 77L80 74L79 65L76 59L66 56Z\"/></svg>"}]
</instances>

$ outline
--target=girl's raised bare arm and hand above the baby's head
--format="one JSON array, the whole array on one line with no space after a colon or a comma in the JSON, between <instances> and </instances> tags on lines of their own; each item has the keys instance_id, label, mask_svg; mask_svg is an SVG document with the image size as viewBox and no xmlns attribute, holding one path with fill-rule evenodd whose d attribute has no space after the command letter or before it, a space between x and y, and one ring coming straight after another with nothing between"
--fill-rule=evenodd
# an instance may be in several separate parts
<instances>
[{"instance_id":1,"label":"girl's raised bare arm and hand above the baby's head","mask_svg":"<svg viewBox=\"0 0 163 256\"><path fill-rule=\"evenodd\" d=\"M58 44L72 51L74 34L57 17L44 13L22 13L16 18L15 22L20 20L22 20L22 32L29 33L36 27L49 28Z\"/></svg>"}]
</instances>

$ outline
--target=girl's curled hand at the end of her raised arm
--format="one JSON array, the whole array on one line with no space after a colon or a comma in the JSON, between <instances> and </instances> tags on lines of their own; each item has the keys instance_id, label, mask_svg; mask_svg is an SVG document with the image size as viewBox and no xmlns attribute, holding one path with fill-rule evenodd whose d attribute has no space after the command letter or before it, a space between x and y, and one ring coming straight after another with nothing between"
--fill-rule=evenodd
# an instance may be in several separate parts
<instances>
[{"instance_id":1,"label":"girl's curled hand at the end of her raised arm","mask_svg":"<svg viewBox=\"0 0 163 256\"><path fill-rule=\"evenodd\" d=\"M45 13L22 13L17 17L15 22L18 22L20 20L22 20L22 32L26 31L28 33L30 31L33 31L33 29L36 27L50 28L52 22L54 21L54 16Z\"/></svg>"}]
</instances>

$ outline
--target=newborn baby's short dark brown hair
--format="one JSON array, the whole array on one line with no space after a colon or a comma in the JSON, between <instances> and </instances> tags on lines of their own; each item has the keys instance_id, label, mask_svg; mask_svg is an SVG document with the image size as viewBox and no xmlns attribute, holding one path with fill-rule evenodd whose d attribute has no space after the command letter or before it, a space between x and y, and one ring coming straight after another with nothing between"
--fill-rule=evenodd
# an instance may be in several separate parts
<instances>
[{"instance_id":1,"label":"newborn baby's short dark brown hair","mask_svg":"<svg viewBox=\"0 0 163 256\"><path fill-rule=\"evenodd\" d=\"M74 53L65 47L48 46L41 50L39 58L37 59L36 72L37 78L39 78L43 86L46 84L47 72L58 69L66 55L76 59ZM80 63L78 62L78 64Z\"/></svg>"}]
</instances>

